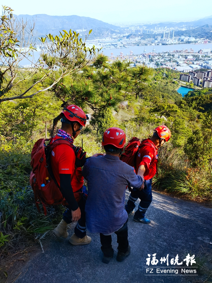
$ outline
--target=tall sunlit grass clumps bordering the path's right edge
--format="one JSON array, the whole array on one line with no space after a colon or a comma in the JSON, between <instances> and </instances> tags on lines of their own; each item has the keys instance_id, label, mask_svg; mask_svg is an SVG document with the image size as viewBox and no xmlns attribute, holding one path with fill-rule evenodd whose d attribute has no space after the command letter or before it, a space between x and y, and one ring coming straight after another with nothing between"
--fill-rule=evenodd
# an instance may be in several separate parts
<instances>
[{"instance_id":1,"label":"tall sunlit grass clumps bordering the path's right edge","mask_svg":"<svg viewBox=\"0 0 212 283\"><path fill-rule=\"evenodd\" d=\"M190 200L212 200L211 167L190 168L181 149L170 145L161 148L158 177L153 185L167 193L178 194Z\"/></svg>"}]
</instances>

